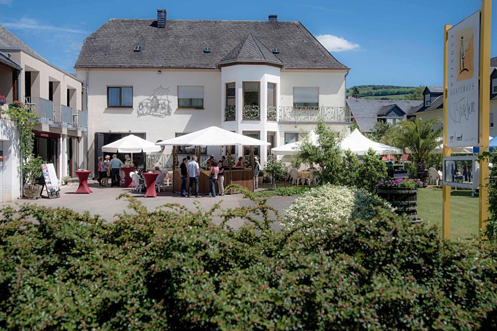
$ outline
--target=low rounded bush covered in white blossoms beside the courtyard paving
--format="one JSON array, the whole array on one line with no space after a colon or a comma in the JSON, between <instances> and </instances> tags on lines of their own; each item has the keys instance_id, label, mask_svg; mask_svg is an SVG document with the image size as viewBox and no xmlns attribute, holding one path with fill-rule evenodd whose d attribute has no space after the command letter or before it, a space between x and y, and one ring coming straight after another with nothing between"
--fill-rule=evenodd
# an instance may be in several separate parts
<instances>
[{"instance_id":1,"label":"low rounded bush covered in white blossoms beside the courtyard paving","mask_svg":"<svg viewBox=\"0 0 497 331\"><path fill-rule=\"evenodd\" d=\"M319 234L328 231L336 222L375 217L377 213L373 206L393 210L388 202L367 191L324 185L292 202L285 210L281 226L285 231L303 226L305 233Z\"/></svg>"}]
</instances>

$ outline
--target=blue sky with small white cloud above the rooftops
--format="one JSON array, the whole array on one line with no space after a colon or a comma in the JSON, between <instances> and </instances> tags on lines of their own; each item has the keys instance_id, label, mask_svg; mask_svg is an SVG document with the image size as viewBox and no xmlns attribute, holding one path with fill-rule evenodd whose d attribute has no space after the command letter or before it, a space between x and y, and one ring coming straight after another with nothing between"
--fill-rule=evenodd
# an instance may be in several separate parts
<instances>
[{"instance_id":1,"label":"blue sky with small white cloud above the rooftops","mask_svg":"<svg viewBox=\"0 0 497 331\"><path fill-rule=\"evenodd\" d=\"M497 56L497 0L492 57ZM341 1L71 1L0 0L0 24L56 66L73 72L83 39L110 18L301 21L351 67L347 86L441 85L443 26L456 24L480 0Z\"/></svg>"}]
</instances>

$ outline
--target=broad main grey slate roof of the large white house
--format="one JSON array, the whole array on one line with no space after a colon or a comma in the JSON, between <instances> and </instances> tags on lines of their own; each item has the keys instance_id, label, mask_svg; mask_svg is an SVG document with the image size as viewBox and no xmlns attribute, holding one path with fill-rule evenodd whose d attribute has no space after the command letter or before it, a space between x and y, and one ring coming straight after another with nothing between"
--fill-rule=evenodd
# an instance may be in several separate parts
<instances>
[{"instance_id":1,"label":"broad main grey slate roof of the large white house","mask_svg":"<svg viewBox=\"0 0 497 331\"><path fill-rule=\"evenodd\" d=\"M300 22L169 19L165 28L156 25L151 19L107 21L84 40L75 67L216 68L250 33L259 49L264 46L257 56L271 57L263 49L277 47L274 58L285 67L347 69ZM142 51L134 52L135 46ZM206 46L210 53L203 52Z\"/></svg>"}]
</instances>

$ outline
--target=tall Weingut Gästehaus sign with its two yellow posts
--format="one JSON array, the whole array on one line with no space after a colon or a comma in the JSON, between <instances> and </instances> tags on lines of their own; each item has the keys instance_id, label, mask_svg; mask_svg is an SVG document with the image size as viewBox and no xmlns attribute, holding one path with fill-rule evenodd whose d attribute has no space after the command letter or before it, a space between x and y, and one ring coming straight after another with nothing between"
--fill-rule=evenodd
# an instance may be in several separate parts
<instances>
[{"instance_id":1,"label":"tall Weingut G\u00e4stehaus sign with its two yellow posts","mask_svg":"<svg viewBox=\"0 0 497 331\"><path fill-rule=\"evenodd\" d=\"M492 0L482 0L481 10L444 28L444 165L451 159L451 147L478 144L480 152L489 150L491 15ZM484 230L489 203L488 161L480 162L479 171L479 227ZM452 183L447 176L453 177ZM450 238L450 189L460 186L454 183L455 176L444 170L443 238Z\"/></svg>"}]
</instances>

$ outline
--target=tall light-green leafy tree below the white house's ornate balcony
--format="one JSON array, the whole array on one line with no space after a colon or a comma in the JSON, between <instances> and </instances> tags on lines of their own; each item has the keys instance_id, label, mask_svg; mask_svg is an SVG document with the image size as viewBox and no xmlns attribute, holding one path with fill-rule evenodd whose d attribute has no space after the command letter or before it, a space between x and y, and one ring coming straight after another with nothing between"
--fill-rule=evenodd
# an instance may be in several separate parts
<instances>
[{"instance_id":1,"label":"tall light-green leafy tree below the white house's ornate balcony","mask_svg":"<svg viewBox=\"0 0 497 331\"><path fill-rule=\"evenodd\" d=\"M297 159L299 162L318 164L321 167L319 176L323 183L339 184L342 171L341 137L321 118L314 132L317 143L311 141L311 135L307 134L301 140Z\"/></svg>"}]
</instances>

